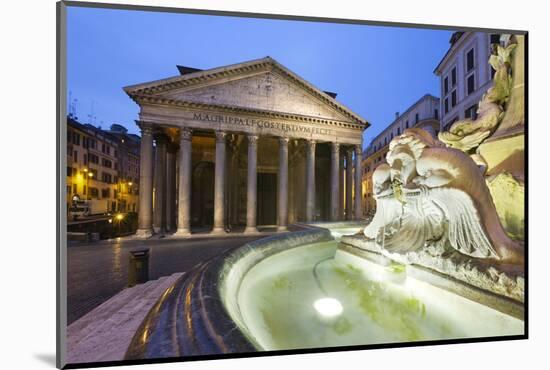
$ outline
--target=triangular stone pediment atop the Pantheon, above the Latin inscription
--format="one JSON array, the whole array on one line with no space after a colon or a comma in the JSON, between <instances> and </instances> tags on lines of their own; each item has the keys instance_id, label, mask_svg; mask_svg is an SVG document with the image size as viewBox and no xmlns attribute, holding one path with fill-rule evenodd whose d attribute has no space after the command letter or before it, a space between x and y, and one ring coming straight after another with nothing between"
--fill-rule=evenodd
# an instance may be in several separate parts
<instances>
[{"instance_id":1,"label":"triangular stone pediment atop the Pantheon, above the Latin inscription","mask_svg":"<svg viewBox=\"0 0 550 370\"><path fill-rule=\"evenodd\" d=\"M368 124L271 58L125 88L130 96L238 107Z\"/></svg>"}]
</instances>

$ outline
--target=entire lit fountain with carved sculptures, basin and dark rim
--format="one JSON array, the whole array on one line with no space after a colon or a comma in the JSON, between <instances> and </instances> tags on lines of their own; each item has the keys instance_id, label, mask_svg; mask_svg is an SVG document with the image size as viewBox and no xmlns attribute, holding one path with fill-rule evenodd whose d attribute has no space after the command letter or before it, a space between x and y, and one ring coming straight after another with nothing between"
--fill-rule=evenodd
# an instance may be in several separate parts
<instances>
[{"instance_id":1,"label":"entire lit fountain with carved sculptures, basin and dark rim","mask_svg":"<svg viewBox=\"0 0 550 370\"><path fill-rule=\"evenodd\" d=\"M523 214L501 199L523 188L522 62L523 37L506 38L476 120L392 140L368 225L307 225L196 267L126 359L522 338Z\"/></svg>"}]
</instances>

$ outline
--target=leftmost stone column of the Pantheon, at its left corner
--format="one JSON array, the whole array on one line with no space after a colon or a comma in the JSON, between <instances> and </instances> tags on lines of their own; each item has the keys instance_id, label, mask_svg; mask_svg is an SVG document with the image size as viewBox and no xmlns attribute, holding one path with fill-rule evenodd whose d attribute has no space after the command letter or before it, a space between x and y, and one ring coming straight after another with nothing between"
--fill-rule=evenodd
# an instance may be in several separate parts
<instances>
[{"instance_id":1,"label":"leftmost stone column of the Pantheon, at its left corner","mask_svg":"<svg viewBox=\"0 0 550 370\"><path fill-rule=\"evenodd\" d=\"M153 235L153 132L141 125L139 164L139 210L136 236Z\"/></svg>"}]
</instances>

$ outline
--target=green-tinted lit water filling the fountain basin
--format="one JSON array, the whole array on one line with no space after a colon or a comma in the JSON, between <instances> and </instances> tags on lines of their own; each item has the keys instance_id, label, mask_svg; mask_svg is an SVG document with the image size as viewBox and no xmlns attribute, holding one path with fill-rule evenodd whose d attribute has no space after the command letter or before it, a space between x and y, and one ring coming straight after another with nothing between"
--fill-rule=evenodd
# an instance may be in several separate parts
<instances>
[{"instance_id":1,"label":"green-tinted lit water filling the fountain basin","mask_svg":"<svg viewBox=\"0 0 550 370\"><path fill-rule=\"evenodd\" d=\"M340 302L340 315L313 307L327 297ZM244 331L266 350L523 333L521 320L407 277L402 265L336 252L336 242L261 261L243 279L238 305Z\"/></svg>"}]
</instances>

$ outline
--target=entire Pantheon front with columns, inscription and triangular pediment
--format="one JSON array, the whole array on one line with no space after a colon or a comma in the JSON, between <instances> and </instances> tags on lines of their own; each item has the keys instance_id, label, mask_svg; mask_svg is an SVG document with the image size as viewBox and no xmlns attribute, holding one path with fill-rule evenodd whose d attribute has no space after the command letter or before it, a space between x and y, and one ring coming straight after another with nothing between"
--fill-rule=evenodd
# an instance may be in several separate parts
<instances>
[{"instance_id":1,"label":"entire Pantheon front with columns, inscription and triangular pediment","mask_svg":"<svg viewBox=\"0 0 550 370\"><path fill-rule=\"evenodd\" d=\"M270 57L125 87L139 105L138 236L362 216L369 123Z\"/></svg>"}]
</instances>

